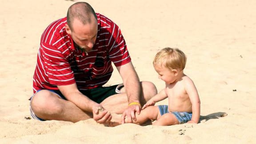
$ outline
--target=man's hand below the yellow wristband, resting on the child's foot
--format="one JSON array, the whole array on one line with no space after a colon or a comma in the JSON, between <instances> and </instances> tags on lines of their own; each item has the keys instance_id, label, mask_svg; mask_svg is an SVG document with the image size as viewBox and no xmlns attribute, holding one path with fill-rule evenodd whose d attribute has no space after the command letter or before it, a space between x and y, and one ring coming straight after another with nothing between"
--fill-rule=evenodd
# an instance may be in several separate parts
<instances>
[{"instance_id":1,"label":"man's hand below the yellow wristband, resting on the child's foot","mask_svg":"<svg viewBox=\"0 0 256 144\"><path fill-rule=\"evenodd\" d=\"M141 106L139 104L134 104L128 106L128 108L122 114L122 124L124 123L133 123L136 121L135 114L139 115L141 110Z\"/></svg>"}]
</instances>

